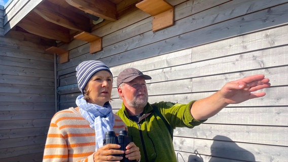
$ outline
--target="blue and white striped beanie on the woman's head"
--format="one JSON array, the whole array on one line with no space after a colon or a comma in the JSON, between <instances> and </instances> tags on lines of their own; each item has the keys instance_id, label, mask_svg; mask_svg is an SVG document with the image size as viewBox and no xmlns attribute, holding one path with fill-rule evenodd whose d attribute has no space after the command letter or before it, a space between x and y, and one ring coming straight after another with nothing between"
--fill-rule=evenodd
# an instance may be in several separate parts
<instances>
[{"instance_id":1,"label":"blue and white striped beanie on the woman's head","mask_svg":"<svg viewBox=\"0 0 288 162\"><path fill-rule=\"evenodd\" d=\"M110 71L109 67L101 61L97 61L97 60L84 61L76 67L76 77L77 77L77 82L78 82L78 88L82 92L83 95L84 95L85 86L88 83L89 79L96 72L101 71L101 70L108 71L113 77L112 72Z\"/></svg>"}]
</instances>

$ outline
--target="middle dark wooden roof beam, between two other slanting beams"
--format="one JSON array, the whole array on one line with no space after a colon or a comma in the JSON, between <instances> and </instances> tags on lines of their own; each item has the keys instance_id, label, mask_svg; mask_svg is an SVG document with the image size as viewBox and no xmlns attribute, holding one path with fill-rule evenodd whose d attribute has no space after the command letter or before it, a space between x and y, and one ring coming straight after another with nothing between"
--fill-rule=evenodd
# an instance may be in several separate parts
<instances>
[{"instance_id":1,"label":"middle dark wooden roof beam, between two other slanting beams","mask_svg":"<svg viewBox=\"0 0 288 162\"><path fill-rule=\"evenodd\" d=\"M50 3L43 2L34 9L43 19L54 24L76 30L90 32L90 19Z\"/></svg>"}]
</instances>

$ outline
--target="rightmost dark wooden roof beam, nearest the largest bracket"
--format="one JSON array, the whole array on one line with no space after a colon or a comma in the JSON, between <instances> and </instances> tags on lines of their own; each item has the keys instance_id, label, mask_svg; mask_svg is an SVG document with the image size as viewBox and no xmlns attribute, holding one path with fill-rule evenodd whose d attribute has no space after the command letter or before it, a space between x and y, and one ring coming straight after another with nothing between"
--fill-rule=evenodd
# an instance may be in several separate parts
<instances>
[{"instance_id":1,"label":"rightmost dark wooden roof beam, nearest the largest bracket","mask_svg":"<svg viewBox=\"0 0 288 162\"><path fill-rule=\"evenodd\" d=\"M83 10L91 15L106 20L116 21L116 4L108 0L65 0L69 5Z\"/></svg>"}]
</instances>

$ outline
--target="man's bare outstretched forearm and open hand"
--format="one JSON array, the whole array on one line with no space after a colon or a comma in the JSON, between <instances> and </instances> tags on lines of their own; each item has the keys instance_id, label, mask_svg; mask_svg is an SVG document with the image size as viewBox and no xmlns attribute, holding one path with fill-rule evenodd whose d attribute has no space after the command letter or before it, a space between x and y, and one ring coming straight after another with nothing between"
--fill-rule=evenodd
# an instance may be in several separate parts
<instances>
[{"instance_id":1,"label":"man's bare outstretched forearm and open hand","mask_svg":"<svg viewBox=\"0 0 288 162\"><path fill-rule=\"evenodd\" d=\"M229 104L263 97L266 95L265 92L255 91L270 87L269 81L263 74L258 74L228 82L213 95L196 101L191 107L191 114L196 120L204 120Z\"/></svg>"}]
</instances>

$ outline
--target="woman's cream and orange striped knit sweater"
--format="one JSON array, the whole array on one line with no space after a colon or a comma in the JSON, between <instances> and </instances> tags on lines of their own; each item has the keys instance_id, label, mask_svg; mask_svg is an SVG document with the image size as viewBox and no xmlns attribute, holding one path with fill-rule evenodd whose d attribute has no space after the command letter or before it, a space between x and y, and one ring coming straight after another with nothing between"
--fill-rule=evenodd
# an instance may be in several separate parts
<instances>
[{"instance_id":1,"label":"woman's cream and orange striped knit sweater","mask_svg":"<svg viewBox=\"0 0 288 162\"><path fill-rule=\"evenodd\" d=\"M115 114L113 131L127 130ZM94 161L95 131L75 108L57 112L51 119L43 161Z\"/></svg>"}]
</instances>

